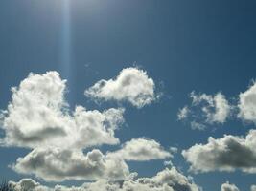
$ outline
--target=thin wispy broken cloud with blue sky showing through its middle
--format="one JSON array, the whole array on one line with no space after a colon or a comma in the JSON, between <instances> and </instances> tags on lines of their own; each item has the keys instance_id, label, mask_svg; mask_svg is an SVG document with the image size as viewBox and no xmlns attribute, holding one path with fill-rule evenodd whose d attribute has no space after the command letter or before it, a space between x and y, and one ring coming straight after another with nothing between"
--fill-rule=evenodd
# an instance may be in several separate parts
<instances>
[{"instance_id":1,"label":"thin wispy broken cloud with blue sky showing through its middle","mask_svg":"<svg viewBox=\"0 0 256 191\"><path fill-rule=\"evenodd\" d=\"M181 108L177 114L179 120L192 120L193 129L203 130L206 125L224 123L230 116L231 106L221 93L216 95L190 94L191 106Z\"/></svg>"}]
</instances>

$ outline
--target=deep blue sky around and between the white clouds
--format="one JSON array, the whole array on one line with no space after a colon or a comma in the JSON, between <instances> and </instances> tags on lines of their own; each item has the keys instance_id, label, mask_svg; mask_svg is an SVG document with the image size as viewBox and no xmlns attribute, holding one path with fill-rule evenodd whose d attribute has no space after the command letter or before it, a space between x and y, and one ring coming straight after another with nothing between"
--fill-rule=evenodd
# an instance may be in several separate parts
<instances>
[{"instance_id":1,"label":"deep blue sky around and between the white clouds","mask_svg":"<svg viewBox=\"0 0 256 191\"><path fill-rule=\"evenodd\" d=\"M72 0L68 74L62 63L61 9L60 0L0 1L1 109L11 100L12 86L30 72L50 70L68 79L72 107L116 106L99 106L83 91L135 64L148 72L165 96L141 110L127 106L127 125L117 132L122 141L145 136L181 150L206 142L209 136L244 135L254 128L229 121L215 132L193 131L177 121L176 113L193 90L235 97L256 78L255 1ZM0 148L0 178L21 178L7 165L25 154L22 149ZM174 163L186 172L188 165L180 154ZM130 168L141 176L152 176L163 165L162 161L132 162ZM240 172L193 177L208 191L220 190L226 180L243 190L256 183L255 175Z\"/></svg>"}]
</instances>

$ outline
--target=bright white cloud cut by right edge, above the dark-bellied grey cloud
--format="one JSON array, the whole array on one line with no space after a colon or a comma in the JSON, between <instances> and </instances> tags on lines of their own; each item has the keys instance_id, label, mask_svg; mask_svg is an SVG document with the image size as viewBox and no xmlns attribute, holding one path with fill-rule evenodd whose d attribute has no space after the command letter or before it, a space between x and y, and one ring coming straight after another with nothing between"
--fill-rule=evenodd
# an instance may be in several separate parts
<instances>
[{"instance_id":1,"label":"bright white cloud cut by right edge, above the dark-bellied grey cloud","mask_svg":"<svg viewBox=\"0 0 256 191\"><path fill-rule=\"evenodd\" d=\"M256 124L256 83L239 95L238 117Z\"/></svg>"}]
</instances>

